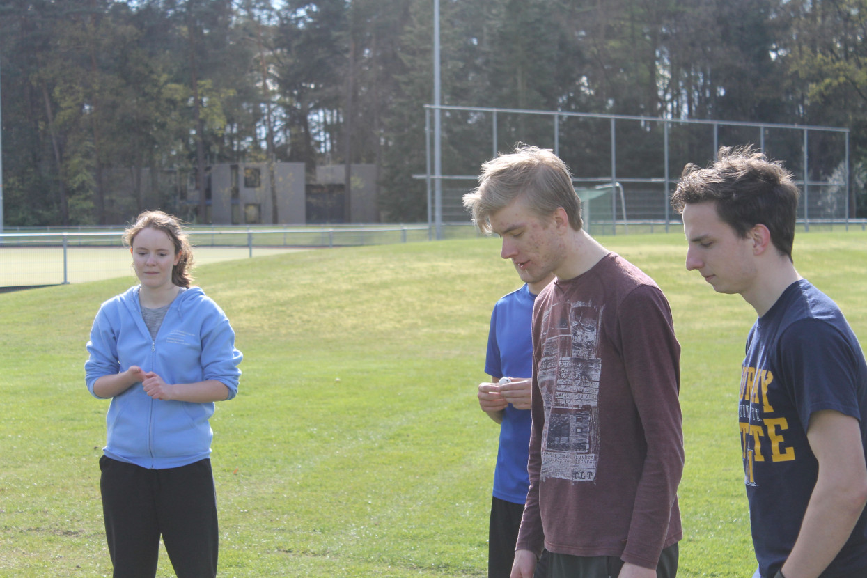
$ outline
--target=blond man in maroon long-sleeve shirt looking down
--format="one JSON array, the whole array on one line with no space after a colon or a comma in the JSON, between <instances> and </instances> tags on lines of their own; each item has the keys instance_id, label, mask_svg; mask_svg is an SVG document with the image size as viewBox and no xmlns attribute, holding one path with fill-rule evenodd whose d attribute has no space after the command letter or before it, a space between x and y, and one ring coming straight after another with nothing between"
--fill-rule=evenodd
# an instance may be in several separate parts
<instances>
[{"instance_id":1,"label":"blond man in maroon long-sleeve shirt looking down","mask_svg":"<svg viewBox=\"0 0 867 578\"><path fill-rule=\"evenodd\" d=\"M676 575L680 346L649 276L585 231L569 169L523 146L465 196L522 278L553 273L532 316L530 490L512 578Z\"/></svg>"}]
</instances>

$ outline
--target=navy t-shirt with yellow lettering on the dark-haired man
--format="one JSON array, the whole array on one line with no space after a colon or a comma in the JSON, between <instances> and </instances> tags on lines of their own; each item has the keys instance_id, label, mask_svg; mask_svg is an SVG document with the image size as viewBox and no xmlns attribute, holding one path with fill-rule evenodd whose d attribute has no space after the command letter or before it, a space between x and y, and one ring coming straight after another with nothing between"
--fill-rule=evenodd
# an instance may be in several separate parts
<instances>
[{"instance_id":1,"label":"navy t-shirt with yellow lettering on the dark-haired man","mask_svg":"<svg viewBox=\"0 0 867 578\"><path fill-rule=\"evenodd\" d=\"M867 363L837 304L805 280L792 283L753 325L740 379L740 443L753 547L761 575L792 551L818 475L810 415L860 421L867 446ZM822 576L867 568L867 510Z\"/></svg>"}]
</instances>

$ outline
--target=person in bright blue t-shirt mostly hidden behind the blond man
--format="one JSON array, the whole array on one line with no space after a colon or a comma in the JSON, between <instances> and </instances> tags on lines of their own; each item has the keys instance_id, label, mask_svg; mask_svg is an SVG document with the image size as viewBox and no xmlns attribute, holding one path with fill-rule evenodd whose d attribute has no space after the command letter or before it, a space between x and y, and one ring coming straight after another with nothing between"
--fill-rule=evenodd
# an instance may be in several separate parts
<instances>
[{"instance_id":1,"label":"person in bright blue t-shirt mostly hidden behind the blond man","mask_svg":"<svg viewBox=\"0 0 867 578\"><path fill-rule=\"evenodd\" d=\"M516 269L525 285L494 305L485 360L485 373L492 377L492 382L479 384L478 393L482 411L500 425L488 530L488 578L508 578L512 571L515 542L530 485L527 447L531 425L533 302L554 278L551 273L535 278L518 265ZM536 576L544 576L542 569L538 569Z\"/></svg>"}]
</instances>

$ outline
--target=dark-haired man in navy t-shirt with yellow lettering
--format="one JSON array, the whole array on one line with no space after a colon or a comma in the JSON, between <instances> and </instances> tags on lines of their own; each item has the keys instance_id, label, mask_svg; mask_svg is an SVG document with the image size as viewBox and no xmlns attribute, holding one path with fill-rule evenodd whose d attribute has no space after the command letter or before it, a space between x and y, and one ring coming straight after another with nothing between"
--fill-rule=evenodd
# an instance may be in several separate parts
<instances>
[{"instance_id":1,"label":"dark-haired man in navy t-shirt with yellow lettering","mask_svg":"<svg viewBox=\"0 0 867 578\"><path fill-rule=\"evenodd\" d=\"M779 163L723 147L672 198L687 269L758 315L740 444L761 578L867 576L867 362L840 309L792 262L799 191Z\"/></svg>"}]
</instances>

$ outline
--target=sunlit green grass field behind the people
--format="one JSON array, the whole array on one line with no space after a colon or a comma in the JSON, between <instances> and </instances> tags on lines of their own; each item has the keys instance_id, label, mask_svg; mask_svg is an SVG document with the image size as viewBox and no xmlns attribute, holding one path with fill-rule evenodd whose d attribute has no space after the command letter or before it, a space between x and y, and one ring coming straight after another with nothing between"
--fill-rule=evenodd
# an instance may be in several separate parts
<instances>
[{"instance_id":1,"label":"sunlit green grass field behind the people","mask_svg":"<svg viewBox=\"0 0 867 578\"><path fill-rule=\"evenodd\" d=\"M681 576L743 578L736 403L753 310L683 267L682 233L602 237L668 295L687 464ZM867 233L805 234L802 275L867 337ZM484 576L497 428L479 411L493 303L516 289L496 239L205 264L197 283L244 352L218 404L221 576ZM0 295L0 576L111 575L97 459L108 402L83 379L99 304L131 277ZM159 576L173 576L164 556Z\"/></svg>"}]
</instances>

